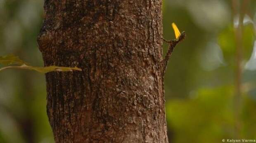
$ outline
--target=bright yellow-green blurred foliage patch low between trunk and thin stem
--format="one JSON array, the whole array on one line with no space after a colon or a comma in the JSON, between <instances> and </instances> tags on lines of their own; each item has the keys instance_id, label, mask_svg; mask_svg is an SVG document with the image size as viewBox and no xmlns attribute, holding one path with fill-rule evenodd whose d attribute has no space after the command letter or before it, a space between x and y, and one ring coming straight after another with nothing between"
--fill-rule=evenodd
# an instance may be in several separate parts
<instances>
[{"instance_id":1,"label":"bright yellow-green blurred foliage patch low between trunk and thin stem","mask_svg":"<svg viewBox=\"0 0 256 143\"><path fill-rule=\"evenodd\" d=\"M167 102L174 143L219 143L232 138L232 87L199 89L191 98Z\"/></svg>"}]
</instances>

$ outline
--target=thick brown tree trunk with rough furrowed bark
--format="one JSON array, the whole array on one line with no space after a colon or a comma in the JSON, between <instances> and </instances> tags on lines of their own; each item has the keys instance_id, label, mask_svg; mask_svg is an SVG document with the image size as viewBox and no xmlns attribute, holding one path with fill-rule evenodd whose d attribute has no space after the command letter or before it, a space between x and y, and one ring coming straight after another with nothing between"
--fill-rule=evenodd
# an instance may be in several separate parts
<instances>
[{"instance_id":1,"label":"thick brown tree trunk with rough furrowed bark","mask_svg":"<svg viewBox=\"0 0 256 143\"><path fill-rule=\"evenodd\" d=\"M45 0L38 36L56 143L167 143L161 0Z\"/></svg>"}]
</instances>

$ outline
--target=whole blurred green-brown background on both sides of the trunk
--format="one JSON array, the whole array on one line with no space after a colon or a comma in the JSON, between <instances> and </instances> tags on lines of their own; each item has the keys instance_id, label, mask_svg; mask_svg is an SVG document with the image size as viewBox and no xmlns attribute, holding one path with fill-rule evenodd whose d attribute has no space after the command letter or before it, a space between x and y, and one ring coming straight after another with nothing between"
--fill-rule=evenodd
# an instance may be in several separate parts
<instances>
[{"instance_id":1,"label":"whole blurred green-brown background on both sides of the trunk","mask_svg":"<svg viewBox=\"0 0 256 143\"><path fill-rule=\"evenodd\" d=\"M163 16L164 38L175 38L172 22L187 34L165 77L171 143L256 139L256 0L164 0ZM43 66L42 17L43 0L0 0L0 56ZM1 71L0 143L53 142L45 76Z\"/></svg>"}]
</instances>

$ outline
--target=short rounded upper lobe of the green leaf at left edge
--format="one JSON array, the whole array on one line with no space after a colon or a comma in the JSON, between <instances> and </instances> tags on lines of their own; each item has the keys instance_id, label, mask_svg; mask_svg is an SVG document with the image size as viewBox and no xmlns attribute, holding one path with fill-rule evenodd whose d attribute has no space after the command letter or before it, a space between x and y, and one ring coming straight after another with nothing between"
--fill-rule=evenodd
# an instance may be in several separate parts
<instances>
[{"instance_id":1,"label":"short rounded upper lobe of the green leaf at left edge","mask_svg":"<svg viewBox=\"0 0 256 143\"><path fill-rule=\"evenodd\" d=\"M14 56L12 54L6 55L6 56L0 56L0 64L3 64L3 65L12 65L12 64L14 64L14 65L23 65L23 64L26 64L26 65L28 65L28 63L19 59L18 56Z\"/></svg>"}]
</instances>

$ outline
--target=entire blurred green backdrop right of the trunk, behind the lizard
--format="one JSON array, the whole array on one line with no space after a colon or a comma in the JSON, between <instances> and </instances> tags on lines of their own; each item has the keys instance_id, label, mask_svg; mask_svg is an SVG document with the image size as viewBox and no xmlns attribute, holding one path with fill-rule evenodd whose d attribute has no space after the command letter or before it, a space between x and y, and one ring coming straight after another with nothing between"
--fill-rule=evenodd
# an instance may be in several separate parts
<instances>
[{"instance_id":1,"label":"entire blurred green backdrop right of the trunk, behind the lizard","mask_svg":"<svg viewBox=\"0 0 256 143\"><path fill-rule=\"evenodd\" d=\"M237 7L232 7L237 2ZM185 30L165 78L168 135L172 143L220 143L227 138L256 139L255 1L245 6L242 27L242 94L235 114L237 15L243 0L165 0L164 37L173 39L170 23ZM234 12L238 9L238 12ZM166 52L164 45L164 52ZM235 128L239 122L241 129ZM236 134L238 132L238 135Z\"/></svg>"}]
</instances>

